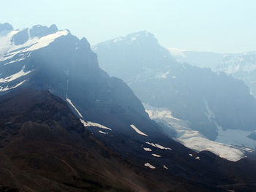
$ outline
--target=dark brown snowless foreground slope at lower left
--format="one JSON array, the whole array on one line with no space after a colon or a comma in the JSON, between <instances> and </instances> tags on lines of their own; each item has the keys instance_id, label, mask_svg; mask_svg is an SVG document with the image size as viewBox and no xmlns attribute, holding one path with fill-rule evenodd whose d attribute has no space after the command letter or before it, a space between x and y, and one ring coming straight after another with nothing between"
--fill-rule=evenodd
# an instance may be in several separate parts
<instances>
[{"instance_id":1,"label":"dark brown snowless foreground slope at lower left","mask_svg":"<svg viewBox=\"0 0 256 192\"><path fill-rule=\"evenodd\" d=\"M0 185L24 191L148 191L145 178L91 137L67 104L48 91L1 96L0 112Z\"/></svg>"}]
</instances>

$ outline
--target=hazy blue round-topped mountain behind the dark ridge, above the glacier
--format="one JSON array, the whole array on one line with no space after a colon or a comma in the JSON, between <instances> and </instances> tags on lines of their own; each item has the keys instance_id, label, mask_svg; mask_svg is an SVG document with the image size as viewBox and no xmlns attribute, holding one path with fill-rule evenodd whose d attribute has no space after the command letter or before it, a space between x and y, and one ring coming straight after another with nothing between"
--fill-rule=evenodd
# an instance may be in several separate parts
<instances>
[{"instance_id":1,"label":"hazy blue round-topped mountain behind the dark ridge, above the glacier","mask_svg":"<svg viewBox=\"0 0 256 192\"><path fill-rule=\"evenodd\" d=\"M208 139L217 140L222 132L222 142L237 145L230 131L243 131L237 134L243 140L256 129L256 100L244 82L178 63L153 34L129 34L99 43L93 50L102 69L127 82L143 103L171 111ZM255 141L250 139L247 147L256 147Z\"/></svg>"}]
</instances>

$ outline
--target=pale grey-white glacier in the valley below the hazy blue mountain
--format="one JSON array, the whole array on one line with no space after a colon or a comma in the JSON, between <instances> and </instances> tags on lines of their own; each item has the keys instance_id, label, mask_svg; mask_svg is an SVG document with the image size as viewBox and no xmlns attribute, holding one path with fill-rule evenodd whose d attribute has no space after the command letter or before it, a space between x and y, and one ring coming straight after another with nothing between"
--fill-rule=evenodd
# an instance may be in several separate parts
<instances>
[{"instance_id":1,"label":"pale grey-white glacier in the valley below the hazy blue mountain","mask_svg":"<svg viewBox=\"0 0 256 192\"><path fill-rule=\"evenodd\" d=\"M205 101L205 104L206 115L208 118L213 119L214 114L208 108L207 101ZM166 109L148 107L148 105L144 105L144 107L146 108L146 112L148 112L148 115L151 119L156 121L164 120L169 128L173 128L176 131L177 137L173 139L176 139L178 142L181 142L183 145L191 148L192 150L196 150L197 152L209 150L212 153L215 153L216 155L219 155L220 157L226 158L230 161L238 161L245 157L246 152L252 151L252 149L242 147L243 145L240 145L240 147L234 146L239 144L239 142L234 142L235 139L241 137L241 141L241 139L244 139L248 133L241 134L241 131L238 130L222 131L221 129L219 130L219 136L217 137L217 140L211 141L200 134L198 131L189 128L188 123L184 120L173 118L170 111L168 112ZM256 144L256 141L253 141L249 138L247 139L250 140L250 142L255 142ZM251 144L250 142L249 144ZM248 147L254 147L254 145L249 145ZM192 154L189 155L192 156ZM199 158L197 159L200 160Z\"/></svg>"}]
</instances>

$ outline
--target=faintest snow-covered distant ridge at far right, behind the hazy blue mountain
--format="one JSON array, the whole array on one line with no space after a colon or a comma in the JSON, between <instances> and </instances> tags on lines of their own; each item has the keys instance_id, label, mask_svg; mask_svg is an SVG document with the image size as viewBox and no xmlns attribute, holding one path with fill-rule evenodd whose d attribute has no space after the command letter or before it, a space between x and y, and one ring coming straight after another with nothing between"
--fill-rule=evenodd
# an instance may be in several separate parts
<instances>
[{"instance_id":1,"label":"faintest snow-covered distant ridge at far right, behind the hazy blue mountain","mask_svg":"<svg viewBox=\"0 0 256 192\"><path fill-rule=\"evenodd\" d=\"M240 80L244 80L256 97L256 52L237 54L221 54L196 52L168 48L177 61L199 67L211 68L214 72L225 72Z\"/></svg>"}]
</instances>

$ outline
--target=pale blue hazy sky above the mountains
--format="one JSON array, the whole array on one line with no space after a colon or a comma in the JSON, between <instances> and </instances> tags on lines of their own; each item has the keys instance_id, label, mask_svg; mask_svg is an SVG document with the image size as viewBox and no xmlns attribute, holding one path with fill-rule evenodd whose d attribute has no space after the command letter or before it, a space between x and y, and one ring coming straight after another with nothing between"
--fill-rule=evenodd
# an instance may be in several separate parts
<instances>
[{"instance_id":1,"label":"pale blue hazy sky above the mountains","mask_svg":"<svg viewBox=\"0 0 256 192\"><path fill-rule=\"evenodd\" d=\"M164 47L242 53L256 50L255 10L255 0L8 0L0 23L55 23L91 45L149 31Z\"/></svg>"}]
</instances>

